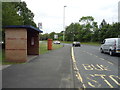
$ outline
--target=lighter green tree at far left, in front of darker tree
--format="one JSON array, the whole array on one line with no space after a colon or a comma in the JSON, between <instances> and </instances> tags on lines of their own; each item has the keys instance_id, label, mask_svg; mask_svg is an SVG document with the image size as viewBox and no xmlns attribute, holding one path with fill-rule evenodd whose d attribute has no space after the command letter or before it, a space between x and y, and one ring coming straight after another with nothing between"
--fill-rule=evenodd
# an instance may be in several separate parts
<instances>
[{"instance_id":1,"label":"lighter green tree at far left, in front of darker tree","mask_svg":"<svg viewBox=\"0 0 120 90\"><path fill-rule=\"evenodd\" d=\"M17 14L15 3L2 3L2 25L22 25L22 18Z\"/></svg>"}]
</instances>

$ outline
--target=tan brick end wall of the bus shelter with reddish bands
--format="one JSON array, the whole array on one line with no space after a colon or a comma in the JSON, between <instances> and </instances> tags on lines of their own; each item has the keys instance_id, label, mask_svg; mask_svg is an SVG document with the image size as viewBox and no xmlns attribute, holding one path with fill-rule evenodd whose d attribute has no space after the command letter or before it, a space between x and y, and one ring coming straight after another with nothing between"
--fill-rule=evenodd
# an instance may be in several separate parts
<instances>
[{"instance_id":1,"label":"tan brick end wall of the bus shelter with reddish bands","mask_svg":"<svg viewBox=\"0 0 120 90\"><path fill-rule=\"evenodd\" d=\"M5 60L13 62L27 61L26 29L5 29Z\"/></svg>"}]
</instances>

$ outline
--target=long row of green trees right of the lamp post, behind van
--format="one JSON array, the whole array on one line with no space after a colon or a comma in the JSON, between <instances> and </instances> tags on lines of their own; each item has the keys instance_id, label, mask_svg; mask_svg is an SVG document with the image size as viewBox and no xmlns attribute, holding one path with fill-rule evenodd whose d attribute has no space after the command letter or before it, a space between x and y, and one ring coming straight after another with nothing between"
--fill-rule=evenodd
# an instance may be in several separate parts
<instances>
[{"instance_id":1,"label":"long row of green trees right of the lamp post, behind van","mask_svg":"<svg viewBox=\"0 0 120 90\"><path fill-rule=\"evenodd\" d=\"M71 23L66 27L67 41L101 42L105 38L115 38L120 35L120 23L108 24L105 19L98 28L92 16L80 18L79 23Z\"/></svg>"}]
</instances>

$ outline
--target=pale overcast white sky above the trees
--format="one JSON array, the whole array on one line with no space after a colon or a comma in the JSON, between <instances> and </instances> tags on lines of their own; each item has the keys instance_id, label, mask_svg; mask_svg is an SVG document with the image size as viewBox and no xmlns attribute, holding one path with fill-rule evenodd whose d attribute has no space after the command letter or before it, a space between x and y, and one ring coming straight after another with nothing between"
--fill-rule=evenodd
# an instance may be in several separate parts
<instances>
[{"instance_id":1,"label":"pale overcast white sky above the trees","mask_svg":"<svg viewBox=\"0 0 120 90\"><path fill-rule=\"evenodd\" d=\"M43 33L64 30L65 26L78 23L82 16L93 16L98 25L105 19L108 23L118 22L118 2L120 0L21 0L34 13L34 21L42 22Z\"/></svg>"}]
</instances>

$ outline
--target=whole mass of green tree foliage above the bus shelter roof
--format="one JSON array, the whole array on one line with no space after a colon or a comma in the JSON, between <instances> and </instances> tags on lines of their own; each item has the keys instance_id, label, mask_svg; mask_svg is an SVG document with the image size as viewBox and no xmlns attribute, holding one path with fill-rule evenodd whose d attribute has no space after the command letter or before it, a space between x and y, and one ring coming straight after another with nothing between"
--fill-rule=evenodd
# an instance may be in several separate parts
<instances>
[{"instance_id":1,"label":"whole mass of green tree foliage above the bus shelter roof","mask_svg":"<svg viewBox=\"0 0 120 90\"><path fill-rule=\"evenodd\" d=\"M3 2L2 3L2 25L32 25L34 14L27 8L25 2Z\"/></svg>"}]
</instances>

